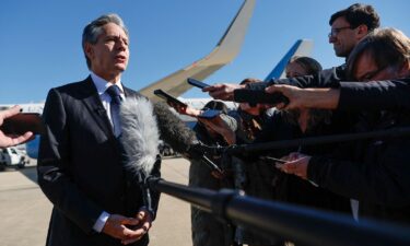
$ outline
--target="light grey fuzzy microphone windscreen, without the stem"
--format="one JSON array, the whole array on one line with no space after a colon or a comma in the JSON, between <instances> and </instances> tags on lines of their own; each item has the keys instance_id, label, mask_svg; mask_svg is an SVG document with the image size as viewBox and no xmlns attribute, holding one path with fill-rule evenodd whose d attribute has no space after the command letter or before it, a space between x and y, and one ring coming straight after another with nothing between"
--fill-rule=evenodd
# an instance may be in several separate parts
<instances>
[{"instance_id":1,"label":"light grey fuzzy microphone windscreen, without the stem","mask_svg":"<svg viewBox=\"0 0 410 246\"><path fill-rule=\"evenodd\" d=\"M153 105L145 97L127 97L120 107L121 137L126 166L149 175L159 154L160 133Z\"/></svg>"}]
</instances>

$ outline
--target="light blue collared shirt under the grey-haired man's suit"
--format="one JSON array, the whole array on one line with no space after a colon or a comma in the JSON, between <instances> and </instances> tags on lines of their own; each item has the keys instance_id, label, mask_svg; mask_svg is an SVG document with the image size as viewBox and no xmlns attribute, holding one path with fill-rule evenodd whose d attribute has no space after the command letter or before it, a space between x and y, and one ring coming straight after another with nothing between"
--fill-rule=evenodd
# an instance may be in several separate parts
<instances>
[{"instance_id":1,"label":"light blue collared shirt under the grey-haired man's suit","mask_svg":"<svg viewBox=\"0 0 410 246\"><path fill-rule=\"evenodd\" d=\"M113 85L113 83L104 80L103 78L96 75L94 72L91 72L91 79L94 82L95 87L97 89L99 99L103 103L103 106L107 113L107 116L109 118L109 121L112 122L112 126L119 126L119 118L112 118L112 109L110 109L110 103L112 103L112 97L108 95L106 90ZM120 90L120 96L122 101L126 99L126 96L124 94L124 89L121 81L119 80L118 82L115 83L119 90ZM115 132L116 137L119 136L120 132Z\"/></svg>"}]
</instances>

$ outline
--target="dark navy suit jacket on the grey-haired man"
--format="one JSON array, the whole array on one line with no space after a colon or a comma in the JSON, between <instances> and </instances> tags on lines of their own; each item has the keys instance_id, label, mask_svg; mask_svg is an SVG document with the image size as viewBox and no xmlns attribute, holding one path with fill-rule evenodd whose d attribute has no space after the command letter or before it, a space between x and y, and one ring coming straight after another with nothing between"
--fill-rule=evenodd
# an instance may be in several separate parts
<instances>
[{"instance_id":1,"label":"dark navy suit jacket on the grey-haired man","mask_svg":"<svg viewBox=\"0 0 410 246\"><path fill-rule=\"evenodd\" d=\"M126 97L141 96L124 90ZM51 89L43 118L38 184L54 204L47 245L121 245L93 225L103 211L134 216L143 201L121 164L118 140L91 77ZM160 176L159 165L152 174ZM159 196L153 197L157 204ZM148 242L147 234L134 245Z\"/></svg>"}]
</instances>

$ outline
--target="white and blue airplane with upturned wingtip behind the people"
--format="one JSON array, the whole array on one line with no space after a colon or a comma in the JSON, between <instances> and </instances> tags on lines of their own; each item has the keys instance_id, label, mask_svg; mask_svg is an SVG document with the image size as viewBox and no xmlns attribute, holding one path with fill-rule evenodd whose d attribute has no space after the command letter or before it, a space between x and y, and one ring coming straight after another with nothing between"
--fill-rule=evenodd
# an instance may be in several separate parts
<instances>
[{"instance_id":1,"label":"white and blue airplane with upturned wingtip behind the people","mask_svg":"<svg viewBox=\"0 0 410 246\"><path fill-rule=\"evenodd\" d=\"M183 98L179 95L191 89L186 80L187 78L195 78L197 80L203 80L211 73L229 63L238 54L243 39L245 37L246 26L248 25L255 0L245 0L244 4L239 9L235 19L224 33L216 47L204 58L192 62L187 68L178 70L171 75L165 77L150 85L141 89L139 92L144 96L149 97L153 102L160 101L160 97L153 94L156 89L178 97L184 103L195 108L202 108L212 98ZM294 56L309 56L313 49L313 42L308 39L297 40L280 62L273 68L273 70L266 78L266 81L272 78L283 78L285 66L289 60ZM230 109L237 108L237 104L232 102L225 102ZM0 109L8 108L13 105L0 105ZM44 103L39 104L20 104L25 113L43 113ZM189 127L192 127L196 119L188 116L179 115ZM38 156L39 137L37 136L34 140L26 143L26 153L33 159Z\"/></svg>"}]
</instances>

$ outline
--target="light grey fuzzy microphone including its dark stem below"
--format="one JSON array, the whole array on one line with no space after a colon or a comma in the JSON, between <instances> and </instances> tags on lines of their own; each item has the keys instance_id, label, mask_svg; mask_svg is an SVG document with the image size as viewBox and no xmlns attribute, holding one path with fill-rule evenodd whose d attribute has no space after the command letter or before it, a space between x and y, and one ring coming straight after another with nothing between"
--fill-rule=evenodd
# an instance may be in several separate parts
<instances>
[{"instance_id":1,"label":"light grey fuzzy microphone including its dark stem below","mask_svg":"<svg viewBox=\"0 0 410 246\"><path fill-rule=\"evenodd\" d=\"M122 162L129 172L126 175L138 183L143 204L155 214L159 192L147 186L147 177L159 173L160 133L152 104L144 97L130 97L121 104L121 131L119 145Z\"/></svg>"}]
</instances>

